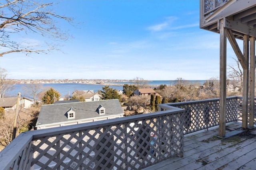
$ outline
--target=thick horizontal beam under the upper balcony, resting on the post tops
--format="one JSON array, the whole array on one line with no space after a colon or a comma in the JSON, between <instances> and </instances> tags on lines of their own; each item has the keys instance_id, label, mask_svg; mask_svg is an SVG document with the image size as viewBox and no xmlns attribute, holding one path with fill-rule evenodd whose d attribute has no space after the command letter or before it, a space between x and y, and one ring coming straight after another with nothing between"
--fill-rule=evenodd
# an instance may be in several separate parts
<instances>
[{"instance_id":1,"label":"thick horizontal beam under the upper balcony, resting on the post tops","mask_svg":"<svg viewBox=\"0 0 256 170\"><path fill-rule=\"evenodd\" d=\"M248 25L245 23L240 23L228 18L224 18L224 27L246 35L250 35L252 37L256 37L256 29L253 27L248 27Z\"/></svg>"}]
</instances>

